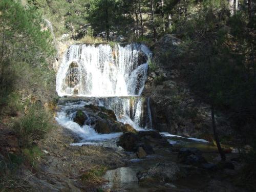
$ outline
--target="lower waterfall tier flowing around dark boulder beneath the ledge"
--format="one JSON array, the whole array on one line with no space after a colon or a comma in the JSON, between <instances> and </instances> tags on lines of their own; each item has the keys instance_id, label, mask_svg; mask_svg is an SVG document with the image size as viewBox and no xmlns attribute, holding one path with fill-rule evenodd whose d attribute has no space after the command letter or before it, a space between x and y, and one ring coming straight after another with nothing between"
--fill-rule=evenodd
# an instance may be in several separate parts
<instances>
[{"instance_id":1,"label":"lower waterfall tier flowing around dark boulder beneath the ledge","mask_svg":"<svg viewBox=\"0 0 256 192\"><path fill-rule=\"evenodd\" d=\"M78 111L87 117L87 121L94 120L94 114L88 112L88 105L104 106L114 111L117 121L130 124L135 130L152 128L151 110L148 99L144 97L98 97L98 98L63 98L59 101L59 111L56 120L62 126L72 130L83 140L100 141L120 136L118 133L98 134L91 123L78 124L74 118Z\"/></svg>"}]
</instances>

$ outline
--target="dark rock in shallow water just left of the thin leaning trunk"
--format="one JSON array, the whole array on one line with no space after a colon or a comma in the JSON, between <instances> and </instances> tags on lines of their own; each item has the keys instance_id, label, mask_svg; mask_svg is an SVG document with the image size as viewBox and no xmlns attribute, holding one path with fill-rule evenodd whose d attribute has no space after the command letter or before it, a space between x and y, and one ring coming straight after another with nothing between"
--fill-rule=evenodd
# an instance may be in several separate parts
<instances>
[{"instance_id":1,"label":"dark rock in shallow water just left of the thin leaning trunk","mask_svg":"<svg viewBox=\"0 0 256 192\"><path fill-rule=\"evenodd\" d=\"M207 161L197 148L181 148L178 154L178 161L188 165L200 165Z\"/></svg>"}]
</instances>

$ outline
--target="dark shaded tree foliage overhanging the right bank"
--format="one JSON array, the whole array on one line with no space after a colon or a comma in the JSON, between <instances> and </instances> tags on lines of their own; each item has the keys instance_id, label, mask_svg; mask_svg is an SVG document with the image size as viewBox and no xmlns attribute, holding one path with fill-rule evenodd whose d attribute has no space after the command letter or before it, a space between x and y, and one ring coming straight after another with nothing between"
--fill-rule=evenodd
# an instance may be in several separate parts
<instances>
[{"instance_id":1,"label":"dark shaded tree foliage overhanging the right bank","mask_svg":"<svg viewBox=\"0 0 256 192\"><path fill-rule=\"evenodd\" d=\"M199 5L197 11L191 6L187 18L176 23L176 32L185 41L183 62L191 63L186 77L195 92L243 126L255 119L256 111L252 29L242 10L231 16L223 1ZM167 55L162 62L167 58L172 57Z\"/></svg>"}]
</instances>

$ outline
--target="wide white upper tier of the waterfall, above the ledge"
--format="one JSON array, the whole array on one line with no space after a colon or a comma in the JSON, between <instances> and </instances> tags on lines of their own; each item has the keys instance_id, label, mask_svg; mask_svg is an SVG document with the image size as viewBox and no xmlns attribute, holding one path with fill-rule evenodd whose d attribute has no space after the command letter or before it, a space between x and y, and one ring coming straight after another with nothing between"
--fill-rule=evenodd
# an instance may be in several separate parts
<instances>
[{"instance_id":1,"label":"wide white upper tier of the waterfall, above the ledge","mask_svg":"<svg viewBox=\"0 0 256 192\"><path fill-rule=\"evenodd\" d=\"M56 77L59 96L140 95L151 51L143 44L72 45Z\"/></svg>"}]
</instances>

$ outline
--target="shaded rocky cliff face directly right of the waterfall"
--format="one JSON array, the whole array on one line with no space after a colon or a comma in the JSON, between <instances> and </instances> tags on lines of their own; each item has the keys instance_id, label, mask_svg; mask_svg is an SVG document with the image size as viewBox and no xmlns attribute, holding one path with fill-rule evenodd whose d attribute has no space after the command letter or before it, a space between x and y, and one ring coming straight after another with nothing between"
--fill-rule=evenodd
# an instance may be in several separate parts
<instances>
[{"instance_id":1,"label":"shaded rocky cliff face directly right of the waterfall","mask_svg":"<svg viewBox=\"0 0 256 192\"><path fill-rule=\"evenodd\" d=\"M143 95L151 97L153 127L172 134L212 139L209 105L189 89L183 71L182 42L165 35L155 46ZM181 59L183 58L183 59ZM221 135L229 135L228 124L217 117Z\"/></svg>"}]
</instances>

